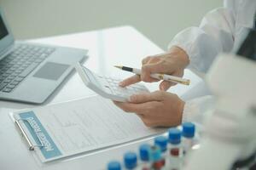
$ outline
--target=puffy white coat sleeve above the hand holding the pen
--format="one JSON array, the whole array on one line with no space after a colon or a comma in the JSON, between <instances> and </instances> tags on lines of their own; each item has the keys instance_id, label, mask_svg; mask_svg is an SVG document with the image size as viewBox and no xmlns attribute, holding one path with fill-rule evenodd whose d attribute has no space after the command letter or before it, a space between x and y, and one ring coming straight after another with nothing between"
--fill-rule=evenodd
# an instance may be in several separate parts
<instances>
[{"instance_id":1,"label":"puffy white coat sleeve above the hand holding the pen","mask_svg":"<svg viewBox=\"0 0 256 170\"><path fill-rule=\"evenodd\" d=\"M230 52L234 44L234 32L234 9L217 8L203 18L199 27L189 27L179 32L168 48L183 48L189 55L189 68L207 72L219 52Z\"/></svg>"}]
</instances>

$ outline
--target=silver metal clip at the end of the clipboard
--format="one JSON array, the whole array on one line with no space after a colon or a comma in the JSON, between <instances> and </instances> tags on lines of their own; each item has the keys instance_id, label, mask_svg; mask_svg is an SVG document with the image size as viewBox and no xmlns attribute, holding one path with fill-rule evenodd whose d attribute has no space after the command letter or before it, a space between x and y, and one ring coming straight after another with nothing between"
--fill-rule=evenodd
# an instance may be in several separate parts
<instances>
[{"instance_id":1,"label":"silver metal clip at the end of the clipboard","mask_svg":"<svg viewBox=\"0 0 256 170\"><path fill-rule=\"evenodd\" d=\"M23 127L21 126L20 122L23 122L25 124L25 122L28 123L28 125L34 130L34 128L31 126L30 122L28 122L26 119L16 119L15 120L15 124L17 125L17 127L20 129L20 132L22 134L22 136L24 136L24 138L26 139L26 143L29 145L29 150L34 150L35 147L38 147L38 148L42 148L44 147L44 144L42 143L41 139L38 138L38 134L34 131L36 137L38 138L38 141L40 144L33 144L32 143L32 140L29 139L26 131L23 129Z\"/></svg>"}]
</instances>

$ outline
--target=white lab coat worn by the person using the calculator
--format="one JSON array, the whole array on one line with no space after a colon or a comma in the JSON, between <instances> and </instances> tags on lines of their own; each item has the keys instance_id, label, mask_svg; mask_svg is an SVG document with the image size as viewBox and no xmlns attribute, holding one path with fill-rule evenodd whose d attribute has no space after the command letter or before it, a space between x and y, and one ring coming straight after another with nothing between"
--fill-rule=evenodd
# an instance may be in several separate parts
<instances>
[{"instance_id":1,"label":"white lab coat worn by the person using the calculator","mask_svg":"<svg viewBox=\"0 0 256 170\"><path fill-rule=\"evenodd\" d=\"M206 73L220 52L230 52L244 38L245 28L253 28L256 0L224 0L224 7L209 12L199 27L179 32L169 48L183 48L189 55L189 68ZM183 122L201 122L203 113L212 109L214 99L205 96L187 101Z\"/></svg>"}]
</instances>

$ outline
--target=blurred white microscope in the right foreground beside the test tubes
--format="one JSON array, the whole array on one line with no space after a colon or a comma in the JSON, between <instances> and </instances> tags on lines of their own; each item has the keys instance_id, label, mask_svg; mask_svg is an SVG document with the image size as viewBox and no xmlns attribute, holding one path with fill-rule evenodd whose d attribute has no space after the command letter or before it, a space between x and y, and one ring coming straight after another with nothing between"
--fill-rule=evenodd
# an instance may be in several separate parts
<instances>
[{"instance_id":1,"label":"blurred white microscope in the right foreground beside the test tubes","mask_svg":"<svg viewBox=\"0 0 256 170\"><path fill-rule=\"evenodd\" d=\"M185 169L255 169L255 30L249 31L236 55L218 55L207 84L217 99L215 111L205 122L201 148L191 153Z\"/></svg>"}]
</instances>

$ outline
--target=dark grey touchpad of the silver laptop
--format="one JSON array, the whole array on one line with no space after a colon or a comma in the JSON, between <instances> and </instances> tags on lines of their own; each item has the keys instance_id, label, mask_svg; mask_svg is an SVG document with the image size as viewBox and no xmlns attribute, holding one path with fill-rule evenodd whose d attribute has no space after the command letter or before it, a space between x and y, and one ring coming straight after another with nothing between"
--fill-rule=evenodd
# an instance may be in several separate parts
<instances>
[{"instance_id":1,"label":"dark grey touchpad of the silver laptop","mask_svg":"<svg viewBox=\"0 0 256 170\"><path fill-rule=\"evenodd\" d=\"M58 80L68 67L69 65L47 62L33 75L33 77Z\"/></svg>"}]
</instances>

